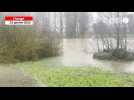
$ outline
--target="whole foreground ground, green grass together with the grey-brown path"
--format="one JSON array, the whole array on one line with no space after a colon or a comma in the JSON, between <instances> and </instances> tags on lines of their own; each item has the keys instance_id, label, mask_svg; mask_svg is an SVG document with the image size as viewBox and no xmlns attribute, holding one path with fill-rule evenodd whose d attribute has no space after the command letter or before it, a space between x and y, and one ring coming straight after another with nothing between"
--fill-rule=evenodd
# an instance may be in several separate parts
<instances>
[{"instance_id":1,"label":"whole foreground ground, green grass together with the grey-brown path","mask_svg":"<svg viewBox=\"0 0 134 100\"><path fill-rule=\"evenodd\" d=\"M133 73L95 66L64 66L60 57L0 66L0 87L116 87L134 86Z\"/></svg>"}]
</instances>

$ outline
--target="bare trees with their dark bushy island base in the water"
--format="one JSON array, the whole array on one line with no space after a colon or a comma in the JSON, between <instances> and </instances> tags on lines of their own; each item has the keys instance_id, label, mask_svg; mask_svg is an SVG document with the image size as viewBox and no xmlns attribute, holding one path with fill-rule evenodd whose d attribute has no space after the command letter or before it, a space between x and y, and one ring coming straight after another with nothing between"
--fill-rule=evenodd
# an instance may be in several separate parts
<instances>
[{"instance_id":1,"label":"bare trees with their dark bushy island base in the water","mask_svg":"<svg viewBox=\"0 0 134 100\"><path fill-rule=\"evenodd\" d=\"M127 41L133 37L133 14L125 12L100 13L93 25L98 52L95 58L134 60L134 53L128 49Z\"/></svg>"}]
</instances>

